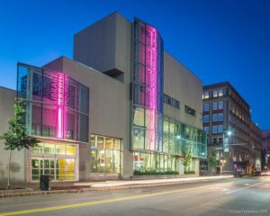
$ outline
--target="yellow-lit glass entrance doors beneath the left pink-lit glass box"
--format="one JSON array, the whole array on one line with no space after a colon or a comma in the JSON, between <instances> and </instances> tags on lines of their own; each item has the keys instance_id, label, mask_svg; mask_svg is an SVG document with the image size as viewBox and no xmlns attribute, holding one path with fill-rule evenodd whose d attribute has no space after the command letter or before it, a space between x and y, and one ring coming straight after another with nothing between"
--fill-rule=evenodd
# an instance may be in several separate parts
<instances>
[{"instance_id":1,"label":"yellow-lit glass entrance doors beneath the left pink-lit glass box","mask_svg":"<svg viewBox=\"0 0 270 216\"><path fill-rule=\"evenodd\" d=\"M31 180L50 175L52 181L76 180L76 144L40 142L31 148Z\"/></svg>"}]
</instances>

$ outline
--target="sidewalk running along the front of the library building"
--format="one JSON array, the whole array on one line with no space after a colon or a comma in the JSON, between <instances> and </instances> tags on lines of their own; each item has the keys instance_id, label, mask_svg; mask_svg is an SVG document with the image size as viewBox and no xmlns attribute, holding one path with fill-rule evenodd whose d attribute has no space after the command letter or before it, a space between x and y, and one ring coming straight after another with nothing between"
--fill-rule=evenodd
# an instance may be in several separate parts
<instances>
[{"instance_id":1,"label":"sidewalk running along the front of the library building","mask_svg":"<svg viewBox=\"0 0 270 216\"><path fill-rule=\"evenodd\" d=\"M40 194L57 194L57 193L84 193L90 191L104 190L120 190L136 187L160 186L169 184L183 184L188 182L202 182L211 180L220 180L232 178L233 175L217 175L217 176L202 176L202 177L184 177L184 178L168 178L168 179L148 179L148 180L129 180L129 181L105 181L105 182L64 182L51 183L51 191L40 191L39 184L15 184L13 186L22 187L21 190L3 190L0 191L0 198L17 197L27 195Z\"/></svg>"}]
</instances>

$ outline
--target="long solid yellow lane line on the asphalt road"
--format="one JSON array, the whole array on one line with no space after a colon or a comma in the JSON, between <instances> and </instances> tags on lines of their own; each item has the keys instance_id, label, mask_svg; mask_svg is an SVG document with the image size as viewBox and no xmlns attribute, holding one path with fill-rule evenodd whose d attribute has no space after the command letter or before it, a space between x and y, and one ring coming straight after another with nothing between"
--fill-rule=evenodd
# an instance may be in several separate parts
<instances>
[{"instance_id":1,"label":"long solid yellow lane line on the asphalt road","mask_svg":"<svg viewBox=\"0 0 270 216\"><path fill-rule=\"evenodd\" d=\"M230 184L230 182L229 183L224 183L224 184ZM223 185L223 184L217 184L217 185ZM102 200L102 201L94 201L94 202L83 202L83 203L76 203L76 204L69 204L69 205L58 205L58 206L54 206L54 207L47 207L47 208L40 208L40 209L31 209L31 210L23 210L23 211L9 211L9 212L0 213L0 216L18 215L18 214L26 214L26 213L34 213L34 212L42 212L42 211L63 210L63 209L70 209L70 208L76 208L76 207L91 206L91 205L95 205L95 204L103 204L103 203L110 203L110 202L120 202L120 201L126 201L126 200L146 198L146 197L169 194L169 193L179 193L179 192L193 191L193 190L209 188L209 187L212 187L212 185L201 186L201 187L192 187L192 188L175 190L175 191L167 191L167 192L159 192L159 193L150 193L150 194L144 194L144 195L121 197L121 198L110 199L110 200Z\"/></svg>"}]
</instances>

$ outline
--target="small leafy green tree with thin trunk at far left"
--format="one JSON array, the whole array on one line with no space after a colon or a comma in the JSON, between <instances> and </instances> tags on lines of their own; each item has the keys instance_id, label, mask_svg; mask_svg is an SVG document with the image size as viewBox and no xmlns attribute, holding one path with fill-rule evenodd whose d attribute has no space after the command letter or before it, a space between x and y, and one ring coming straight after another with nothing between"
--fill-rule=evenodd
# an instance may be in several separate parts
<instances>
[{"instance_id":1,"label":"small leafy green tree with thin trunk at far left","mask_svg":"<svg viewBox=\"0 0 270 216\"><path fill-rule=\"evenodd\" d=\"M37 139L30 138L26 134L25 123L23 121L25 113L23 100L16 99L14 104L14 118L8 121L8 130L0 136L0 139L4 140L4 149L9 150L7 189L10 188L10 165L13 151L22 150L23 148L29 149L38 144Z\"/></svg>"}]
</instances>

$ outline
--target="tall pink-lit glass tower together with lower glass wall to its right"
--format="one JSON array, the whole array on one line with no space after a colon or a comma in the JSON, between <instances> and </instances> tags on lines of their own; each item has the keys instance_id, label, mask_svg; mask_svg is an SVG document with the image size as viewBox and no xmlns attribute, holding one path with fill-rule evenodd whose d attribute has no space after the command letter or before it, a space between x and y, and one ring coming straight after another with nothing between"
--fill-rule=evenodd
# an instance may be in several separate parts
<instances>
[{"instance_id":1,"label":"tall pink-lit glass tower together with lower glass wall to its right","mask_svg":"<svg viewBox=\"0 0 270 216\"><path fill-rule=\"evenodd\" d=\"M133 169L177 171L184 151L191 151L193 157L206 157L206 136L203 130L163 115L163 40L148 23L135 19L133 27Z\"/></svg>"}]
</instances>

